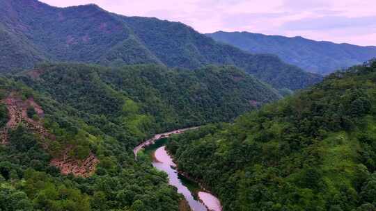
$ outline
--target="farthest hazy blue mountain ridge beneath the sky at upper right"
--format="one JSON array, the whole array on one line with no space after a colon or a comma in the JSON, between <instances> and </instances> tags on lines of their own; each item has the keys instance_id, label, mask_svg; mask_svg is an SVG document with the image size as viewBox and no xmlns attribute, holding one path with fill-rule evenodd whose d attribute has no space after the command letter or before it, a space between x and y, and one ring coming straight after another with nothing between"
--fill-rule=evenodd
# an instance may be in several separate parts
<instances>
[{"instance_id":1,"label":"farthest hazy blue mountain ridge beneath the sky at upper right","mask_svg":"<svg viewBox=\"0 0 376 211\"><path fill-rule=\"evenodd\" d=\"M232 44L250 53L272 53L284 62L316 74L330 74L338 69L376 57L376 47L308 40L303 37L283 37L248 32L207 34L214 40Z\"/></svg>"}]
</instances>

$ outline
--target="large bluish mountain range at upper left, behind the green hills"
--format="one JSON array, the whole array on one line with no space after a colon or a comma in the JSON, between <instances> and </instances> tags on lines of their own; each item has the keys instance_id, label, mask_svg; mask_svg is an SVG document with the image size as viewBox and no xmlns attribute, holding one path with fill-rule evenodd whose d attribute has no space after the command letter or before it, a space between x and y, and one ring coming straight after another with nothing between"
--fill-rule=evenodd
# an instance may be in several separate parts
<instances>
[{"instance_id":1,"label":"large bluish mountain range at upper left, behind the green hills","mask_svg":"<svg viewBox=\"0 0 376 211\"><path fill-rule=\"evenodd\" d=\"M215 42L185 24L125 17L95 5L56 8L36 0L1 0L0 35L1 71L46 60L187 69L211 64L235 65L277 89L297 90L322 80L276 56Z\"/></svg>"}]
</instances>

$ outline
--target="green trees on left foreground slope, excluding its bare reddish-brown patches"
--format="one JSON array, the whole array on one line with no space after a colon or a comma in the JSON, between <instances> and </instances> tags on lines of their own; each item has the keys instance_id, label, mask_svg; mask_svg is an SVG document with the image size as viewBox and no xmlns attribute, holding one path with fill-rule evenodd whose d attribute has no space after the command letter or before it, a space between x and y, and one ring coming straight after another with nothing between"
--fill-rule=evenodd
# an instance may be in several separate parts
<instances>
[{"instance_id":1,"label":"green trees on left foreground slope, excluding its bare reddish-brown patches","mask_svg":"<svg viewBox=\"0 0 376 211\"><path fill-rule=\"evenodd\" d=\"M23 99L33 96L45 110L45 128L56 136L45 149L46 140L23 124L9 131L9 144L0 144L0 210L178 210L182 196L149 160L134 161L134 140L118 138L115 126L98 128L88 121L96 118L90 112L54 101L14 78L0 78L0 86L1 99L10 92ZM3 107L0 117L6 122ZM67 146L77 159L95 153L100 164L93 176L63 176L49 164Z\"/></svg>"}]
</instances>

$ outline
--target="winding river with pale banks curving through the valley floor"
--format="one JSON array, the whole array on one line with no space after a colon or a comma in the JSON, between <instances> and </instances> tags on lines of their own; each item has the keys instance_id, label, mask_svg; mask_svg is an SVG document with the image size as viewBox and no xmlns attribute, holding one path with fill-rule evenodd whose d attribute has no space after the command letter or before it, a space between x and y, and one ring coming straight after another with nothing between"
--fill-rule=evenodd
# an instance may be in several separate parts
<instances>
[{"instance_id":1,"label":"winding river with pale banks curving through the valley floor","mask_svg":"<svg viewBox=\"0 0 376 211\"><path fill-rule=\"evenodd\" d=\"M195 127L197 128L197 127ZM174 130L169 133L157 134L152 137L150 140L143 142L139 146L134 148L133 152L135 158L137 158L137 153L145 148L146 146L152 147L157 140L170 137L173 134L184 133L187 130L192 130L195 128L185 128L180 130ZM191 191L188 186L188 183L193 183L189 179L185 178L176 170L176 164L173 162L173 159L166 151L166 146L159 146L155 151L152 152L152 165L160 171L166 172L169 176L169 184L175 186L178 189L178 193L182 194L185 197L185 200L188 202L189 207L192 211L221 211L221 203L217 197L213 196L209 192L205 192L203 189L198 191ZM189 181L189 182L188 182ZM199 187L198 184L194 186Z\"/></svg>"}]
</instances>

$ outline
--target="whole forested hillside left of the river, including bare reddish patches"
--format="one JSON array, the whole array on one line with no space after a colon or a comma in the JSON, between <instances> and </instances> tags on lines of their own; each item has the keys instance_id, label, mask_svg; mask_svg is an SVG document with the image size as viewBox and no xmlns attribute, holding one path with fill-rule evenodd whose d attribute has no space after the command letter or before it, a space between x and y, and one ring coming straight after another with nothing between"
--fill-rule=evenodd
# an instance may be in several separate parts
<instances>
[{"instance_id":1,"label":"whole forested hillside left of the river, including bare reddish patches","mask_svg":"<svg viewBox=\"0 0 376 211\"><path fill-rule=\"evenodd\" d=\"M63 63L0 77L0 210L178 210L134 146L280 97L236 67Z\"/></svg>"}]
</instances>

